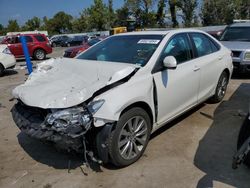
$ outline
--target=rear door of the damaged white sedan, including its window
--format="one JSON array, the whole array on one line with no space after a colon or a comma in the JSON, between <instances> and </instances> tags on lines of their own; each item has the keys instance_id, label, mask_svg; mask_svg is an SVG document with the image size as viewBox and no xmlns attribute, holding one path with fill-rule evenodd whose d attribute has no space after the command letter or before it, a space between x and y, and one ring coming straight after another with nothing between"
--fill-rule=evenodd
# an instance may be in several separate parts
<instances>
[{"instance_id":1,"label":"rear door of the damaged white sedan, including its window","mask_svg":"<svg viewBox=\"0 0 250 188\"><path fill-rule=\"evenodd\" d=\"M190 39L194 44L195 56L200 67L200 88L198 101L204 101L211 96L214 91L218 77L224 66L222 54L219 46L213 39L203 33L190 33Z\"/></svg>"}]
</instances>

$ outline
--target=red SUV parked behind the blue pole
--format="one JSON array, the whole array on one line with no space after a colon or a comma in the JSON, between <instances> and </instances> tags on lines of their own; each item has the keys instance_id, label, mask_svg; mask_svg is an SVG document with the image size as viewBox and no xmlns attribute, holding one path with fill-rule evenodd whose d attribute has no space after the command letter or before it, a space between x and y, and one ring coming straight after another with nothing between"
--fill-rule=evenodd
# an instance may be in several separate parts
<instances>
[{"instance_id":1,"label":"red SUV parked behind the blue pole","mask_svg":"<svg viewBox=\"0 0 250 188\"><path fill-rule=\"evenodd\" d=\"M20 36L24 36L31 57L37 60L46 58L47 54L52 53L52 48L44 34L19 34L7 36L2 43L7 44L11 53L16 57L24 57Z\"/></svg>"}]
</instances>

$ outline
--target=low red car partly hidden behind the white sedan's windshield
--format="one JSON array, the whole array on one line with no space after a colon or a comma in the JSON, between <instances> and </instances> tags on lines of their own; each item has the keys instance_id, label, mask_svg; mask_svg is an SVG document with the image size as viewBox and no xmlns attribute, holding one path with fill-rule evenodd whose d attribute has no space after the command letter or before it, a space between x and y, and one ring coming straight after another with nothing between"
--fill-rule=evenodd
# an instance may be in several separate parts
<instances>
[{"instance_id":1,"label":"low red car partly hidden behind the white sedan's windshield","mask_svg":"<svg viewBox=\"0 0 250 188\"><path fill-rule=\"evenodd\" d=\"M98 43L100 41L101 41L101 39L94 38L94 39L88 40L87 42L84 42L81 46L66 49L65 52L64 52L63 57L73 58L77 54L80 54L81 52L87 50L90 46L93 46L94 44L96 44L96 43Z\"/></svg>"}]
</instances>

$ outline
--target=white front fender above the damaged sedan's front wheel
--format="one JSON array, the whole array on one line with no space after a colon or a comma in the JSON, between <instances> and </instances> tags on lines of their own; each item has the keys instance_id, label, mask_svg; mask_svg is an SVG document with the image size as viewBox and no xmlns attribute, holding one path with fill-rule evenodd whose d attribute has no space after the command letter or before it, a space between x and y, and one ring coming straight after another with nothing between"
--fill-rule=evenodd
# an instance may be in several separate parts
<instances>
[{"instance_id":1,"label":"white front fender above the damaged sedan's front wheel","mask_svg":"<svg viewBox=\"0 0 250 188\"><path fill-rule=\"evenodd\" d=\"M104 99L103 106L93 115L95 126L102 126L106 121L118 121L121 112L136 102L145 102L149 105L155 120L153 101L153 77L138 71L129 82L112 88L97 96L94 100ZM104 119L101 123L100 119Z\"/></svg>"}]
</instances>

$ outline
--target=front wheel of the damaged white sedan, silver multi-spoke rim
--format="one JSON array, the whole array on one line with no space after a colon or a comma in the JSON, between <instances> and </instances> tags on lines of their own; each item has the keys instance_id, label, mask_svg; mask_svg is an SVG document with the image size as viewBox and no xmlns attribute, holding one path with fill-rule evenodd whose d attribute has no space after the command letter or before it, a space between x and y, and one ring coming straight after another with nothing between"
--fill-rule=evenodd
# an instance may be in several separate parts
<instances>
[{"instance_id":1,"label":"front wheel of the damaged white sedan, silver multi-spoke rim","mask_svg":"<svg viewBox=\"0 0 250 188\"><path fill-rule=\"evenodd\" d=\"M150 122L148 113L139 107L121 115L108 141L111 163L124 167L142 156L151 133Z\"/></svg>"}]
</instances>

